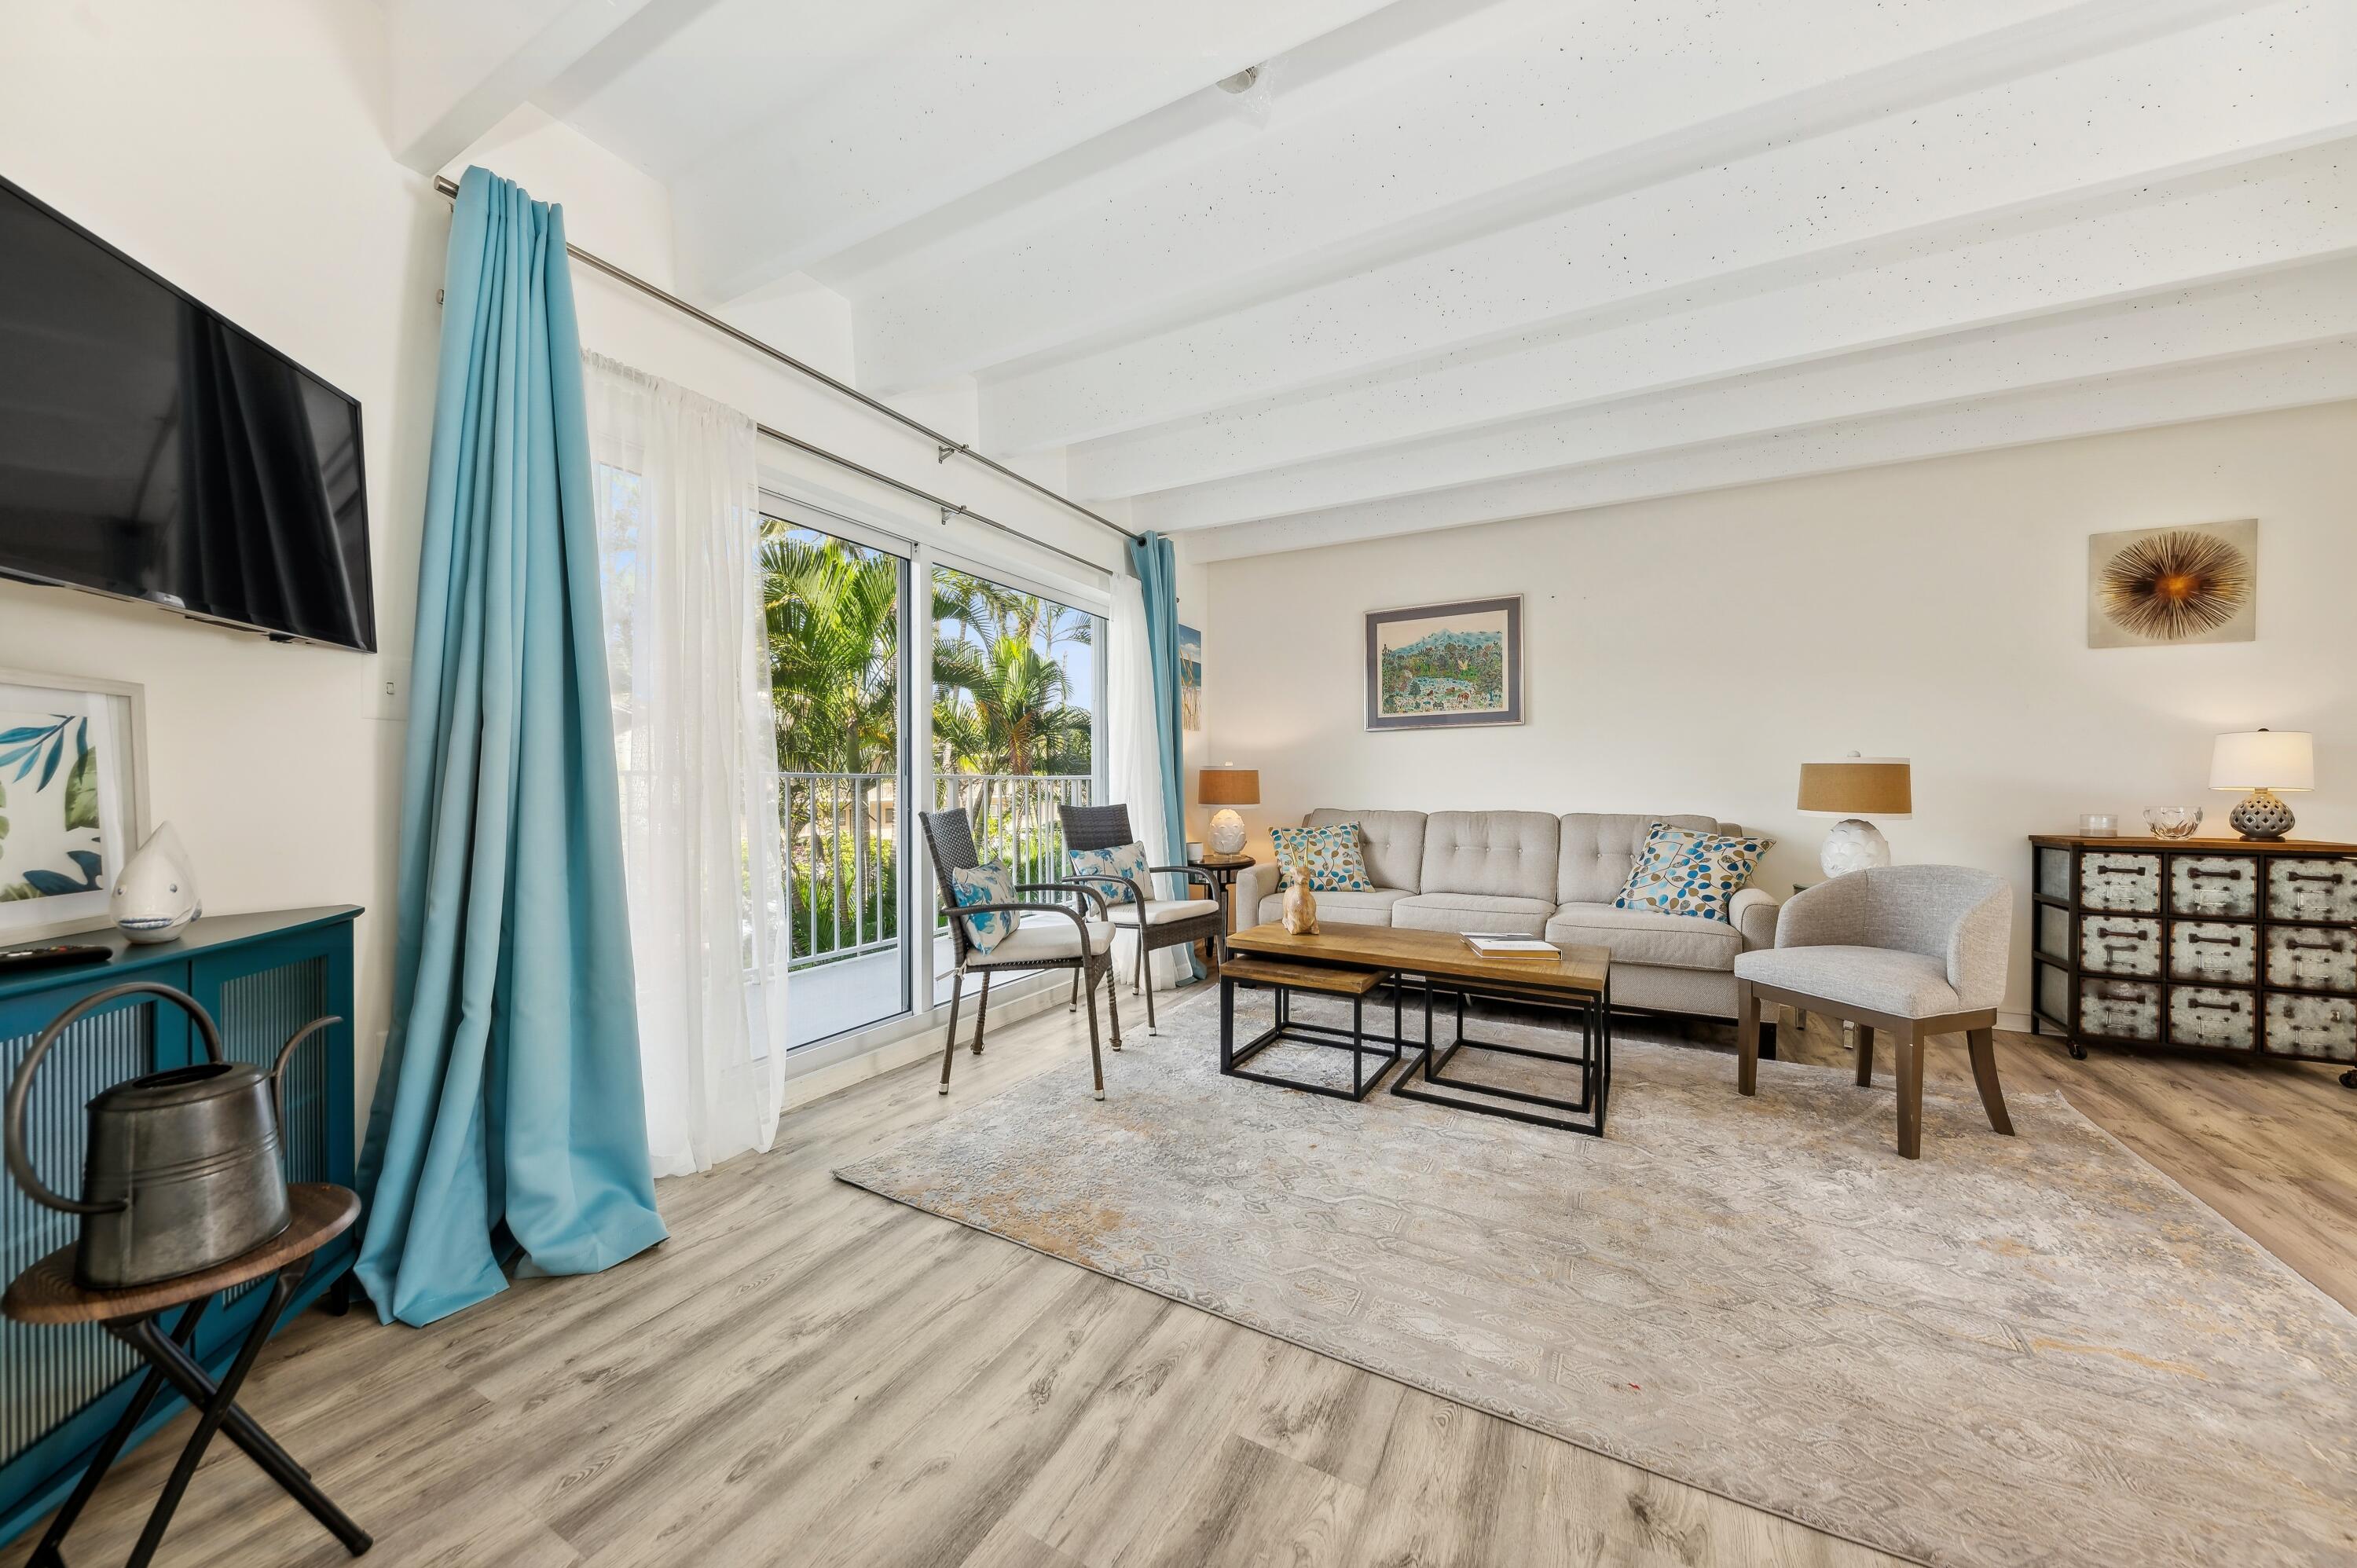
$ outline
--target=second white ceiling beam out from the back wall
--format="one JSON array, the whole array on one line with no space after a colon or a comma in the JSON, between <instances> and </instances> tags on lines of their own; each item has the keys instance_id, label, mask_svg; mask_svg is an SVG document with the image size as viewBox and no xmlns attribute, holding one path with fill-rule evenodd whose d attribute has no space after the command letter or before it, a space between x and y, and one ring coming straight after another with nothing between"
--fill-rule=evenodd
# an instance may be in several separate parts
<instances>
[{"instance_id":1,"label":"second white ceiling beam out from the back wall","mask_svg":"<svg viewBox=\"0 0 2357 1568\"><path fill-rule=\"evenodd\" d=\"M1131 521L1162 533L1216 528L2333 337L2357 337L2357 259L1928 337L1537 422L1141 495L1131 505Z\"/></svg>"}]
</instances>

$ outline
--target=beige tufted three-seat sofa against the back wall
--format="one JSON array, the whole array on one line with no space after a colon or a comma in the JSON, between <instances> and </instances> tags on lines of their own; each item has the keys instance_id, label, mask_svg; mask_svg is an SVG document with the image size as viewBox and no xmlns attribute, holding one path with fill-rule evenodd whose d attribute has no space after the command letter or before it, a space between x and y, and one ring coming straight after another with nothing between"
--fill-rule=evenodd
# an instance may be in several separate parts
<instances>
[{"instance_id":1,"label":"beige tufted three-seat sofa against the back wall","mask_svg":"<svg viewBox=\"0 0 2357 1568\"><path fill-rule=\"evenodd\" d=\"M1777 901L1735 894L1732 920L1617 910L1652 823L1742 832L1709 816L1574 811L1310 811L1303 828L1358 823L1374 891L1318 894L1318 917L1424 931L1544 936L1612 953L1612 1004L1735 1019L1735 955L1775 948ZM1235 924L1285 915L1277 868L1244 868Z\"/></svg>"}]
</instances>

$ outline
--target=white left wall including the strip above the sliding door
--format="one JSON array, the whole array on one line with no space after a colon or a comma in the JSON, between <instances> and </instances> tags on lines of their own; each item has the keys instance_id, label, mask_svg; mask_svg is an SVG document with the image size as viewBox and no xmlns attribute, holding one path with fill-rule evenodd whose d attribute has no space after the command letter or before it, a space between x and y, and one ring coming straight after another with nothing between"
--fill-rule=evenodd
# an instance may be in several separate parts
<instances>
[{"instance_id":1,"label":"white left wall including the strip above the sliding door","mask_svg":"<svg viewBox=\"0 0 2357 1568\"><path fill-rule=\"evenodd\" d=\"M431 434L436 290L450 205L391 153L379 7L351 0L0 0L0 172L361 398L382 655L0 582L0 665L144 681L158 818L189 844L210 910L361 903L361 1096L389 1012L403 726L377 686L415 618ZM478 156L563 200L575 243L669 276L655 182L521 116ZM575 269L587 347L724 398L764 424L896 472L1113 564L1117 540L931 448L750 349ZM851 368L832 295L766 299L759 330ZM21 389L19 389L21 391ZM879 512L936 519L816 460L780 460ZM999 535L952 528L969 549ZM1070 573L1042 556L1042 568Z\"/></svg>"}]
</instances>

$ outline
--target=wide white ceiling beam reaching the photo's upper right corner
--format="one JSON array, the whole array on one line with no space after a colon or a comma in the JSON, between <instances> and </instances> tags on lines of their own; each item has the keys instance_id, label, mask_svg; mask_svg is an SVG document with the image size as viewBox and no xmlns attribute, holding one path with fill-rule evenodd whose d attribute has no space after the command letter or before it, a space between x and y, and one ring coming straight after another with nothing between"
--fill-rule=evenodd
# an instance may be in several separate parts
<instances>
[{"instance_id":1,"label":"wide white ceiling beam reaching the photo's upper right corner","mask_svg":"<svg viewBox=\"0 0 2357 1568\"><path fill-rule=\"evenodd\" d=\"M983 436L997 450L1068 446L1676 297L1747 266L1841 257L1881 236L2348 134L2352 57L2357 5L2237 14L1080 358L988 375Z\"/></svg>"}]
</instances>

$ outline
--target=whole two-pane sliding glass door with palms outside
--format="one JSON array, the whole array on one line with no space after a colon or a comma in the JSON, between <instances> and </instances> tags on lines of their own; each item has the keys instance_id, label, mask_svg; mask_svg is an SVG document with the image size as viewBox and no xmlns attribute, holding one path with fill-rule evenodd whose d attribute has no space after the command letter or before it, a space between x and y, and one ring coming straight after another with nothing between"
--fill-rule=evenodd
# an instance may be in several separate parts
<instances>
[{"instance_id":1,"label":"whole two-pane sliding glass door with palms outside","mask_svg":"<svg viewBox=\"0 0 2357 1568\"><path fill-rule=\"evenodd\" d=\"M1056 806L1103 799L1105 622L1072 589L766 500L785 1012L811 1047L950 997L917 806L964 806L1018 882L1065 875Z\"/></svg>"}]
</instances>

